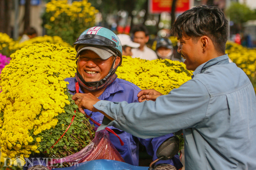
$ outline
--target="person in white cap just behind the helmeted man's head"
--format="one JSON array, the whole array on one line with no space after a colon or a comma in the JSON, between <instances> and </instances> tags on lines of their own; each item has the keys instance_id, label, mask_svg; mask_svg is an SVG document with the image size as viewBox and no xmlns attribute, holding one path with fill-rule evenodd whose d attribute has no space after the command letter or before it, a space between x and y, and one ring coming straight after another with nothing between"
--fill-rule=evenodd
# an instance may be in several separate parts
<instances>
[{"instance_id":1,"label":"person in white cap just behind the helmeted man's head","mask_svg":"<svg viewBox=\"0 0 256 170\"><path fill-rule=\"evenodd\" d=\"M132 56L132 48L139 48L140 44L132 42L132 38L126 34L118 34L117 37L122 44L122 55Z\"/></svg>"}]
</instances>

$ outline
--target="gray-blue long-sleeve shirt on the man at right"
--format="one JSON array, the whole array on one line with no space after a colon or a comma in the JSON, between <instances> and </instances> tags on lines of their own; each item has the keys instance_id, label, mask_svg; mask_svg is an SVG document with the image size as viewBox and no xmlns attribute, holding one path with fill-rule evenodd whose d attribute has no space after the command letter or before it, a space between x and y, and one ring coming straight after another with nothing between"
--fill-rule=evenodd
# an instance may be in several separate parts
<instances>
[{"instance_id":1,"label":"gray-blue long-sleeve shirt on the man at right","mask_svg":"<svg viewBox=\"0 0 256 170\"><path fill-rule=\"evenodd\" d=\"M198 66L193 79L142 103L98 101L102 126L141 138L183 129L186 170L256 170L256 96L228 55Z\"/></svg>"}]
</instances>

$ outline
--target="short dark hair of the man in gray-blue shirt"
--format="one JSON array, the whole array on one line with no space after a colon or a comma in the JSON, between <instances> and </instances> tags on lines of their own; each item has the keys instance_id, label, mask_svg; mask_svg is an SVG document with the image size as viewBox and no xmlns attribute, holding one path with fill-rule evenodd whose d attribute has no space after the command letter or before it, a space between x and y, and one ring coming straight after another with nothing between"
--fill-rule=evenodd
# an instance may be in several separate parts
<instances>
[{"instance_id":1,"label":"short dark hair of the man in gray-blue shirt","mask_svg":"<svg viewBox=\"0 0 256 170\"><path fill-rule=\"evenodd\" d=\"M208 36L220 53L225 53L228 40L228 21L223 11L218 7L197 6L178 16L171 29L178 38L188 37L198 40L198 37Z\"/></svg>"}]
</instances>

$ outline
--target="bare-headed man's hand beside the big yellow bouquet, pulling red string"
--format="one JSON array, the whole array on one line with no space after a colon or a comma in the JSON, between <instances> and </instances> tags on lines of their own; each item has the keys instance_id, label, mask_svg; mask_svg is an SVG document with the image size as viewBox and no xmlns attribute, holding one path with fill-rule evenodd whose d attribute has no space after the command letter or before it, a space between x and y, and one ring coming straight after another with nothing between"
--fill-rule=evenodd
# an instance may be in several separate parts
<instances>
[{"instance_id":1,"label":"bare-headed man's hand beside the big yellow bouquet, pulling red string","mask_svg":"<svg viewBox=\"0 0 256 170\"><path fill-rule=\"evenodd\" d=\"M78 105L78 110L81 113L85 114L83 109L88 109L92 112L98 112L98 109L93 107L93 105L100 100L91 93L76 93L72 96L72 99Z\"/></svg>"}]
</instances>

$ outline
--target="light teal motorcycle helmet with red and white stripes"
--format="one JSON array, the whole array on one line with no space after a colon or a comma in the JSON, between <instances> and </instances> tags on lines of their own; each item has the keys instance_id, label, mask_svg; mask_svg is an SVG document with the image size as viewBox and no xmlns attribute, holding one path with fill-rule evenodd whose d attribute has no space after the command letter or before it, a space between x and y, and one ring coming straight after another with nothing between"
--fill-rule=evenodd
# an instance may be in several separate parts
<instances>
[{"instance_id":1,"label":"light teal motorcycle helmet with red and white stripes","mask_svg":"<svg viewBox=\"0 0 256 170\"><path fill-rule=\"evenodd\" d=\"M91 27L83 31L77 38L75 45L76 52L80 44L88 44L88 46L105 46L117 52L121 58L119 65L122 63L122 44L117 35L113 31L104 27Z\"/></svg>"}]
</instances>

